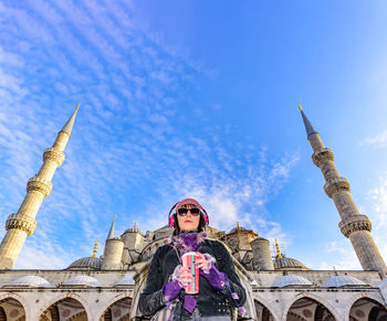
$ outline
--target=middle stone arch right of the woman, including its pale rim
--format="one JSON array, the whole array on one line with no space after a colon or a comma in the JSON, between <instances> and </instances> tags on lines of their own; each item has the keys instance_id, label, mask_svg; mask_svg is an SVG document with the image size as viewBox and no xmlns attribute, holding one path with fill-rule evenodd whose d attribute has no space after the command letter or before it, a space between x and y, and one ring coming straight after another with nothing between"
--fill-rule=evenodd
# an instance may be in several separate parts
<instances>
[{"instance_id":1,"label":"middle stone arch right of the woman, including its pale rim","mask_svg":"<svg viewBox=\"0 0 387 321\"><path fill-rule=\"evenodd\" d=\"M336 321L341 320L332 304L313 293L300 293L286 304L282 320L313 320Z\"/></svg>"}]
</instances>

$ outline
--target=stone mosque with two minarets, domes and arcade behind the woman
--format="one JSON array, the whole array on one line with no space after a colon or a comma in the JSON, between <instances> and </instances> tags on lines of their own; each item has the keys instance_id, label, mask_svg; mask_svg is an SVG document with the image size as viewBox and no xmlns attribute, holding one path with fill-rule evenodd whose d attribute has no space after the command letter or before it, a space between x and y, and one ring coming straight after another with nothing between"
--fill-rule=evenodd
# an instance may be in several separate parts
<instances>
[{"instance_id":1,"label":"stone mosque with two minarets, domes and arcade behind the woman","mask_svg":"<svg viewBox=\"0 0 387 321\"><path fill-rule=\"evenodd\" d=\"M248 292L247 313L231 310L232 320L387 320L387 267L372 238L372 224L352 200L349 183L339 176L332 150L301 107L300 111L313 163L325 178L324 190L342 220L338 227L349 238L363 270L312 270L281 254L276 242L273 257L273 245L252 229L239 224L229 232L208 226L210 237L222 242L232 255ZM116 236L114 217L101 257L95 249L93 256L79 258L62 270L12 269L25 238L36 228L35 216L44 197L52 191L51 180L64 161L76 113L77 108L44 151L43 165L28 181L22 204L6 221L7 234L0 245L0 321L148 320L138 310L138 298L151 256L170 234L168 226L143 233L134 224Z\"/></svg>"}]
</instances>

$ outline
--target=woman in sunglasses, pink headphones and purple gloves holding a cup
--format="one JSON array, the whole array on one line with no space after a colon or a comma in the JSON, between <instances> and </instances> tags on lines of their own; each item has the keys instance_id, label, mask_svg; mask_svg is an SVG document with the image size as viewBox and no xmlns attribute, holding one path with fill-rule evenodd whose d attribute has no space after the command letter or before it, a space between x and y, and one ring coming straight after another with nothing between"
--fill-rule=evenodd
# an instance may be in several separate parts
<instances>
[{"instance_id":1,"label":"woman in sunglasses, pink headphones and purple gloves holding a cup","mask_svg":"<svg viewBox=\"0 0 387 321\"><path fill-rule=\"evenodd\" d=\"M170 210L168 224L175 228L174 235L151 259L139 298L142 313L151 315L172 301L176 302L174 320L230 320L229 303L243 313L245 291L229 252L220 242L207 239L206 210L194 199L182 200ZM200 270L198 295L185 293L192 281L189 270L181 266L181 256L188 252L199 253L195 263Z\"/></svg>"}]
</instances>

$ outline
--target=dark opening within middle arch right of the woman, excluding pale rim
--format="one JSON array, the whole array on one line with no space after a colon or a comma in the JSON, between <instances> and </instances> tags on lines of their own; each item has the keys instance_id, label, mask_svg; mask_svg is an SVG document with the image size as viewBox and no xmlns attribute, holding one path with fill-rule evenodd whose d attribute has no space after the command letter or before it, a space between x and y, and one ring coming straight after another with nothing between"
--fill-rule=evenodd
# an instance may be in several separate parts
<instances>
[{"instance_id":1,"label":"dark opening within middle arch right of the woman, excluding pale rim","mask_svg":"<svg viewBox=\"0 0 387 321\"><path fill-rule=\"evenodd\" d=\"M331 311L311 298L296 300L287 311L287 321L335 321Z\"/></svg>"}]
</instances>

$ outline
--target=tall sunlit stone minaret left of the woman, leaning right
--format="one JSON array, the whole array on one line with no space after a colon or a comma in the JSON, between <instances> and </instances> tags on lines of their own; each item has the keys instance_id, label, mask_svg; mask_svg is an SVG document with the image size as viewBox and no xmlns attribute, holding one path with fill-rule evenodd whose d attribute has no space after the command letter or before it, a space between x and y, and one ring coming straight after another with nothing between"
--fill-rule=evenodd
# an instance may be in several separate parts
<instances>
[{"instance_id":1,"label":"tall sunlit stone minaret left of the woman, leaning right","mask_svg":"<svg viewBox=\"0 0 387 321\"><path fill-rule=\"evenodd\" d=\"M18 213L8 216L6 222L7 234L0 244L0 269L11 269L20 254L27 236L36 228L35 216L45 199L52 191L52 176L64 161L63 150L70 139L76 111L57 133L54 145L43 153L43 165L39 173L27 183L27 195Z\"/></svg>"}]
</instances>

